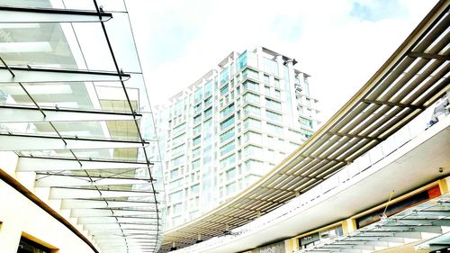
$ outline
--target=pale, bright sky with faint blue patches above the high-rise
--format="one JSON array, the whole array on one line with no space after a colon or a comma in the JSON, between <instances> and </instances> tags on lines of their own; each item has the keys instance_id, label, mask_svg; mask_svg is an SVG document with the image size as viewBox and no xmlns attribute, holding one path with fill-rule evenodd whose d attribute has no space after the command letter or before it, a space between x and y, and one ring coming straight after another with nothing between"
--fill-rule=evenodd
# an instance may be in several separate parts
<instances>
[{"instance_id":1,"label":"pale, bright sky with faint blue patches above the high-rise","mask_svg":"<svg viewBox=\"0 0 450 253\"><path fill-rule=\"evenodd\" d=\"M325 122L374 75L436 0L127 0L152 106L229 52L263 46L311 75Z\"/></svg>"}]
</instances>

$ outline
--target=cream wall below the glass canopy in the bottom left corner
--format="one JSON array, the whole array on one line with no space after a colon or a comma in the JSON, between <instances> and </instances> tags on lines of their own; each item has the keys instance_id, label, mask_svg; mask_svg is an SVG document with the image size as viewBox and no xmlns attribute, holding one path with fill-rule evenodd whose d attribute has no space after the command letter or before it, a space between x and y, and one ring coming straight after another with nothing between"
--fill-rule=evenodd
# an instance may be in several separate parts
<instances>
[{"instance_id":1,"label":"cream wall below the glass canopy in the bottom left corner","mask_svg":"<svg viewBox=\"0 0 450 253\"><path fill-rule=\"evenodd\" d=\"M0 152L0 169L21 182L20 179L23 176L14 173L16 162L14 153ZM24 183L28 183L24 185L30 185L30 182ZM74 232L3 180L0 180L0 221L2 222L0 225L2 253L17 252L21 236L53 248L53 251L58 253L94 252Z\"/></svg>"}]
</instances>

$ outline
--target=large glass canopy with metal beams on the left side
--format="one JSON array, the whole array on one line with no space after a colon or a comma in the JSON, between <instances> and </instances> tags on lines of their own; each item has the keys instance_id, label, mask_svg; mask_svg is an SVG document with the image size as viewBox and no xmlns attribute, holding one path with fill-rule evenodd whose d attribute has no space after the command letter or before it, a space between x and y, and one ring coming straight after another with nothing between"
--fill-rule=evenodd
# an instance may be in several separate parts
<instances>
[{"instance_id":1,"label":"large glass canopy with metal beams on the left side","mask_svg":"<svg viewBox=\"0 0 450 253\"><path fill-rule=\"evenodd\" d=\"M0 151L101 252L156 252L157 135L122 0L0 0Z\"/></svg>"}]
</instances>

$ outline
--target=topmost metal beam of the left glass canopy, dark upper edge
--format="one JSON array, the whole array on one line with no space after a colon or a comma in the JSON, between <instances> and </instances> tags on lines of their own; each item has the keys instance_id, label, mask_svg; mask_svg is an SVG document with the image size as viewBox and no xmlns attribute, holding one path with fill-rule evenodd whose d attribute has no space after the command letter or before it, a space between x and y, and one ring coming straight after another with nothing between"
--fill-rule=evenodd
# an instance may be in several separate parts
<instances>
[{"instance_id":1,"label":"topmost metal beam of the left glass canopy, dark upper edge","mask_svg":"<svg viewBox=\"0 0 450 253\"><path fill-rule=\"evenodd\" d=\"M102 16L100 20L99 15ZM0 6L0 23L79 23L106 22L111 13L54 8Z\"/></svg>"}]
</instances>

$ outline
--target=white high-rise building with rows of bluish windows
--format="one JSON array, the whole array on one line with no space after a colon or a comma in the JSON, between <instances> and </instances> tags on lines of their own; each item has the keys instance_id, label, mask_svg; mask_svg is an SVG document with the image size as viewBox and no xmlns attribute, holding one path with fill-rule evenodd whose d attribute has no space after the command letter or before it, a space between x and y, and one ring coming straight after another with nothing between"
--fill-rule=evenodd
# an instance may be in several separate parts
<instances>
[{"instance_id":1,"label":"white high-rise building with rows of bluish windows","mask_svg":"<svg viewBox=\"0 0 450 253\"><path fill-rule=\"evenodd\" d=\"M238 194L312 135L317 100L296 63L263 47L231 52L157 107L168 228Z\"/></svg>"}]
</instances>

